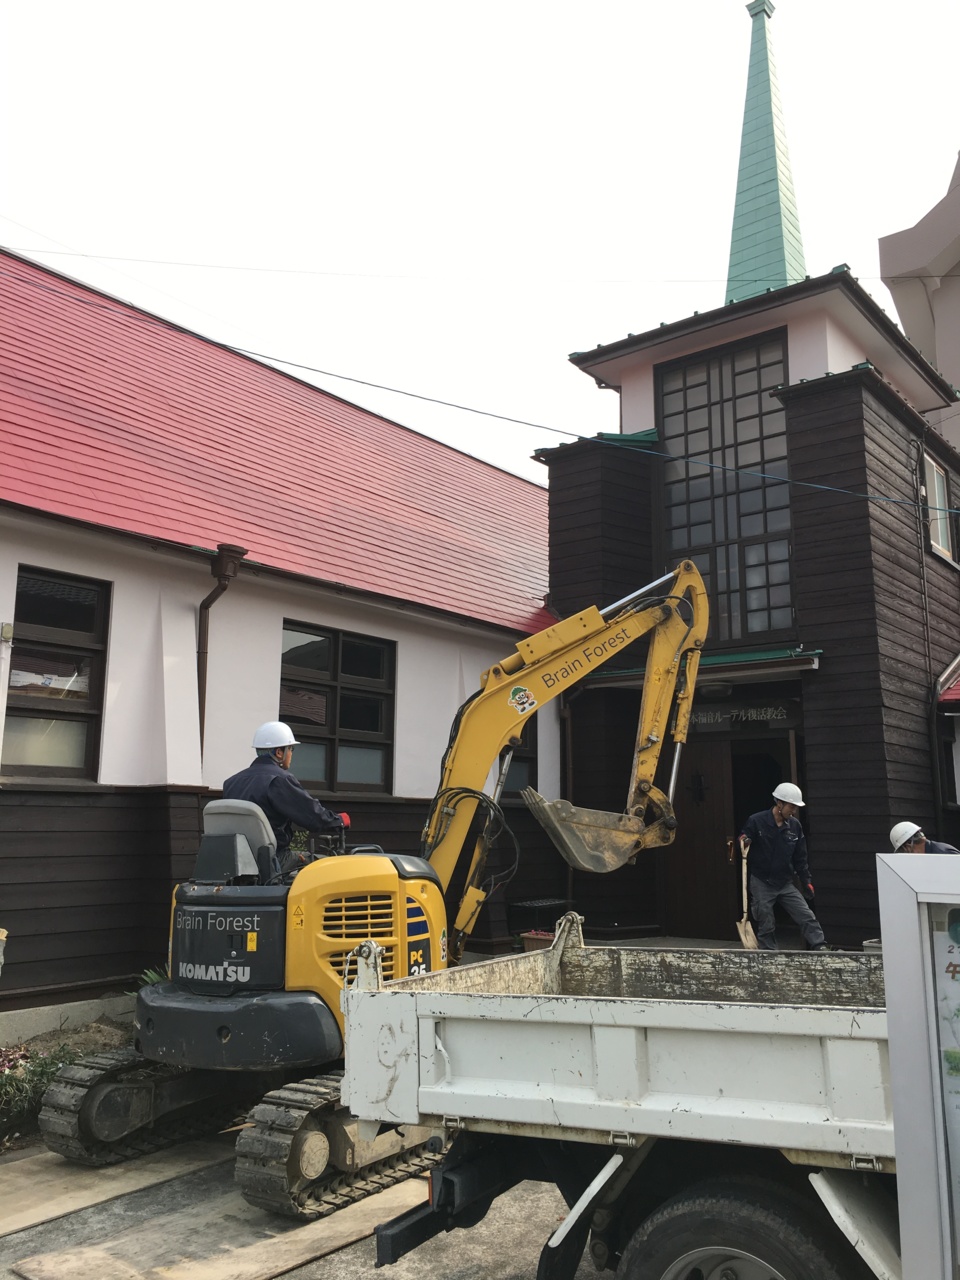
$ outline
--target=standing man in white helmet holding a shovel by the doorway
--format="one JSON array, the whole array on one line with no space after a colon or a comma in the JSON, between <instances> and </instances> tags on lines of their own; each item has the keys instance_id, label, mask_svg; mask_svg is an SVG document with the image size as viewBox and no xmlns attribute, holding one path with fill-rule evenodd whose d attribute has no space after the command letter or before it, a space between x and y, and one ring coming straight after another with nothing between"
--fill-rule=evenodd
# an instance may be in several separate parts
<instances>
[{"instance_id":1,"label":"standing man in white helmet holding a shovel by the doorway","mask_svg":"<svg viewBox=\"0 0 960 1280\"><path fill-rule=\"evenodd\" d=\"M777 951L774 908L780 902L800 925L810 951L823 951L823 929L808 901L813 900L813 881L806 856L804 828L797 812L804 808L800 787L781 782L773 791L773 808L751 814L744 823L741 841L749 850L750 911L756 925L756 941L763 951ZM803 893L794 883L800 881Z\"/></svg>"}]
</instances>

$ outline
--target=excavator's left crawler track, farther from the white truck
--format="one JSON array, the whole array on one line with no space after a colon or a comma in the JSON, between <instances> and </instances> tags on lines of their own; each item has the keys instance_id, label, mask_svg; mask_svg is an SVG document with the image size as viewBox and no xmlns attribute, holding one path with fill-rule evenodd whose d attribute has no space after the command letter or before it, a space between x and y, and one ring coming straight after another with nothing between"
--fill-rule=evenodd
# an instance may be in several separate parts
<instances>
[{"instance_id":1,"label":"excavator's left crawler track, farther from the white truck","mask_svg":"<svg viewBox=\"0 0 960 1280\"><path fill-rule=\"evenodd\" d=\"M79 1165L102 1169L119 1165L136 1156L146 1156L164 1147L192 1138L209 1137L230 1123L242 1111L234 1101L227 1106L210 1102L193 1103L184 1111L160 1116L115 1142L102 1142L83 1133L82 1108L90 1091L109 1084L143 1078L143 1074L166 1076L175 1069L157 1066L141 1057L133 1048L97 1053L63 1066L44 1094L40 1133L49 1151Z\"/></svg>"}]
</instances>

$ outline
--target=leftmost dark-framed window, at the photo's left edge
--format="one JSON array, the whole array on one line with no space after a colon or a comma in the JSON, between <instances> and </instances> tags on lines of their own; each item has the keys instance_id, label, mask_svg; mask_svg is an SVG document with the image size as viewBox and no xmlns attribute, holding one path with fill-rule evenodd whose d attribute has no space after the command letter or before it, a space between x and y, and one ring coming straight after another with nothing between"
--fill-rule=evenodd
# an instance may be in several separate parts
<instances>
[{"instance_id":1,"label":"leftmost dark-framed window, at the photo's left edge","mask_svg":"<svg viewBox=\"0 0 960 1280\"><path fill-rule=\"evenodd\" d=\"M20 566L0 768L97 777L110 586Z\"/></svg>"}]
</instances>

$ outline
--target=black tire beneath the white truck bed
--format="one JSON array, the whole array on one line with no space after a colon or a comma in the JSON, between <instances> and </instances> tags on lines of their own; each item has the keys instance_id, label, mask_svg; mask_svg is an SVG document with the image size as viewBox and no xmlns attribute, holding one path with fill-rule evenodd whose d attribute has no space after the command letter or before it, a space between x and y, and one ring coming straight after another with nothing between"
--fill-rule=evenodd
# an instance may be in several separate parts
<instances>
[{"instance_id":1,"label":"black tire beneath the white truck bed","mask_svg":"<svg viewBox=\"0 0 960 1280\"><path fill-rule=\"evenodd\" d=\"M726 1266L728 1265L728 1267ZM863 1280L845 1240L833 1240L788 1190L750 1178L710 1179L662 1204L631 1236L617 1280Z\"/></svg>"}]
</instances>

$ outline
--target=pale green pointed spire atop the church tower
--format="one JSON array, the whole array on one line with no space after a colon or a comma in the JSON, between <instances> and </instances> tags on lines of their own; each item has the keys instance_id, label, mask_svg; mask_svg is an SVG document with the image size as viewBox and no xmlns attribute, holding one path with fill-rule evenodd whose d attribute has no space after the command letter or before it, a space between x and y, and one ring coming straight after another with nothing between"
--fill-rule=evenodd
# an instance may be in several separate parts
<instances>
[{"instance_id":1,"label":"pale green pointed spire atop the church tower","mask_svg":"<svg viewBox=\"0 0 960 1280\"><path fill-rule=\"evenodd\" d=\"M727 302L795 284L806 274L777 69L767 32L773 5L771 0L751 0L746 12L754 26L730 238Z\"/></svg>"}]
</instances>

